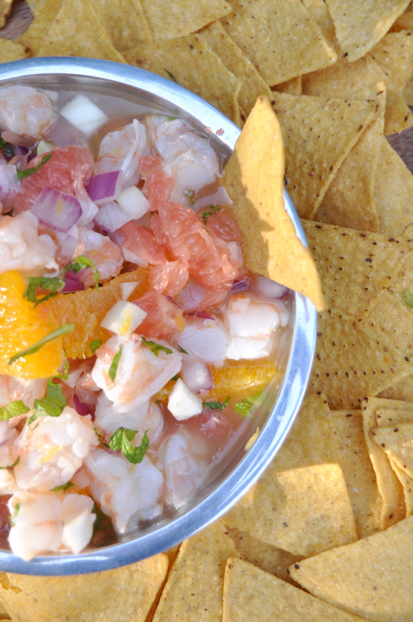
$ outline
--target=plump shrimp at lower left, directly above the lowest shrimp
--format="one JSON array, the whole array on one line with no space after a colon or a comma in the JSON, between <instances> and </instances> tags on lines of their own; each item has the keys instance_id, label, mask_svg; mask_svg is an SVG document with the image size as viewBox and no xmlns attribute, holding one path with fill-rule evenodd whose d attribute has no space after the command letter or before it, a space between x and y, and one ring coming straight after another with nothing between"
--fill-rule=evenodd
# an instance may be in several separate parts
<instances>
[{"instance_id":1,"label":"plump shrimp at lower left, directly above the lowest shrimp","mask_svg":"<svg viewBox=\"0 0 413 622\"><path fill-rule=\"evenodd\" d=\"M20 457L14 467L17 485L46 491L67 484L97 444L92 419L69 406L59 417L39 417L33 427L26 423L15 443Z\"/></svg>"}]
</instances>

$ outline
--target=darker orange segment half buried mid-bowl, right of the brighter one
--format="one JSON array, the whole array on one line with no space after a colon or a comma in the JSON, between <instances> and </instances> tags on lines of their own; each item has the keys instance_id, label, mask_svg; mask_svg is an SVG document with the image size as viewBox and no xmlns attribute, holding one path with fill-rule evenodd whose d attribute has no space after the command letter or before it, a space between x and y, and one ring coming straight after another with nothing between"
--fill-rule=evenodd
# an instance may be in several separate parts
<instances>
[{"instance_id":1,"label":"darker orange segment half buried mid-bowl, right of the brighter one","mask_svg":"<svg viewBox=\"0 0 413 622\"><path fill-rule=\"evenodd\" d=\"M39 304L44 317L61 326L66 322L74 324L72 333L63 335L63 348L69 358L92 356L90 342L101 339L103 343L112 333L101 328L100 322L117 300L122 298L121 283L136 282L135 291L129 299L139 298L147 291L148 271L137 268L116 276L99 289L89 288L74 293L58 293L54 298Z\"/></svg>"}]
</instances>

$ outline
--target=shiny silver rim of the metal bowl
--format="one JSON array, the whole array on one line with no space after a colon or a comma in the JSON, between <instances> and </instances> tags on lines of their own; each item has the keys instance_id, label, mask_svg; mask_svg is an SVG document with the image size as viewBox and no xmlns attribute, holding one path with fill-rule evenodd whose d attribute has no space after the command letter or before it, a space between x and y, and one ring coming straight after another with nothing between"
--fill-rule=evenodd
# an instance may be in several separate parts
<instances>
[{"instance_id":1,"label":"shiny silver rim of the metal bowl","mask_svg":"<svg viewBox=\"0 0 413 622\"><path fill-rule=\"evenodd\" d=\"M229 118L184 87L162 76L112 61L61 56L12 61L1 65L0 85L43 75L50 81L58 74L74 79L109 80L119 87L127 85L156 96L160 102L187 110L231 151L240 135L239 127ZM47 81L41 87L47 90ZM188 110L189 99L191 110ZM285 189L284 205L293 220L297 237L308 247L299 216ZM163 552L222 517L262 475L284 442L304 400L315 355L317 311L313 303L301 294L294 293L293 300L295 324L291 351L277 400L254 443L254 450L246 453L220 486L197 506L140 538L84 553L50 554L30 561L24 561L8 550L0 550L1 570L44 576L109 570Z\"/></svg>"}]
</instances>

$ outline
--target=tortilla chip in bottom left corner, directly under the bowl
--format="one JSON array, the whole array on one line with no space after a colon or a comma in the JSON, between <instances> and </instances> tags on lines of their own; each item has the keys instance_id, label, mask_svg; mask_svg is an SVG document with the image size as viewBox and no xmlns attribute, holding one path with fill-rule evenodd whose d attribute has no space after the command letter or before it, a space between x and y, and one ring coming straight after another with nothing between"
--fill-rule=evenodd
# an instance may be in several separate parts
<instances>
[{"instance_id":1,"label":"tortilla chip in bottom left corner, directly under the bowl","mask_svg":"<svg viewBox=\"0 0 413 622\"><path fill-rule=\"evenodd\" d=\"M167 570L168 557L159 554L93 574L34 577L7 573L0 576L0 594L16 621L145 622Z\"/></svg>"}]
</instances>

